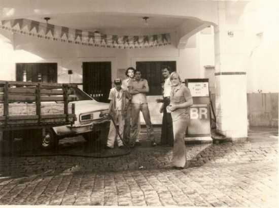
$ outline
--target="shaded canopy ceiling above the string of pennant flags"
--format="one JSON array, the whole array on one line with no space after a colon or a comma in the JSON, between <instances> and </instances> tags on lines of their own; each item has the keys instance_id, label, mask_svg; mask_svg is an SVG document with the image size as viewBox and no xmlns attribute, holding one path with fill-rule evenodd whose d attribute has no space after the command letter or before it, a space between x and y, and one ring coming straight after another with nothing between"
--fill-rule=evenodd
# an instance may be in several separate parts
<instances>
[{"instance_id":1,"label":"shaded canopy ceiling above the string of pennant flags","mask_svg":"<svg viewBox=\"0 0 279 208\"><path fill-rule=\"evenodd\" d=\"M46 16L41 17L25 17L26 19L46 22ZM142 30L169 30L178 27L187 21L195 21L186 18L153 16L147 19L147 23L143 20L143 16L133 16L127 14L60 14L50 15L50 24L77 28L82 30L91 29L142 29Z\"/></svg>"}]
</instances>

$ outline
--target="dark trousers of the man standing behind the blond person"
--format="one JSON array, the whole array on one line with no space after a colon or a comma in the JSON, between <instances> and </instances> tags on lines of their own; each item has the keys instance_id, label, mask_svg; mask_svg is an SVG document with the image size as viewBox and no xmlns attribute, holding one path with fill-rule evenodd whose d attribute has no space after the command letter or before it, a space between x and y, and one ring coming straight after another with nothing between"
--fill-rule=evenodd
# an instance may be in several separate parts
<instances>
[{"instance_id":1,"label":"dark trousers of the man standing behind the blond person","mask_svg":"<svg viewBox=\"0 0 279 208\"><path fill-rule=\"evenodd\" d=\"M163 108L163 121L162 121L162 132L161 132L161 144L173 146L173 129L172 119L170 113L166 112L166 107L169 105L169 98L164 97L164 108Z\"/></svg>"}]
</instances>

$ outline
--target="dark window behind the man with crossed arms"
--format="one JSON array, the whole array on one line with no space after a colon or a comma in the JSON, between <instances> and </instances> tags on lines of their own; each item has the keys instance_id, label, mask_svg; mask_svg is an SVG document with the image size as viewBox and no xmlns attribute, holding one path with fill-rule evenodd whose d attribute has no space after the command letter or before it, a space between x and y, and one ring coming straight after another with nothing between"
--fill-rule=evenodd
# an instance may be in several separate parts
<instances>
[{"instance_id":1,"label":"dark window behind the man with crossed arms","mask_svg":"<svg viewBox=\"0 0 279 208\"><path fill-rule=\"evenodd\" d=\"M162 77L161 67L167 65L171 72L177 71L176 61L137 61L136 68L142 71L142 78L148 81L148 95L162 95Z\"/></svg>"}]
</instances>

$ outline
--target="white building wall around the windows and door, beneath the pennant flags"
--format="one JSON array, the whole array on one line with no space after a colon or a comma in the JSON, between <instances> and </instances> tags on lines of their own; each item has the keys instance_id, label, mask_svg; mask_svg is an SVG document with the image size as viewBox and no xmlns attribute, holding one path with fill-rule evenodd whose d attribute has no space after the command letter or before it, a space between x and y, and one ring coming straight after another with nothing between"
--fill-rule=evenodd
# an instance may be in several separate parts
<instances>
[{"instance_id":1,"label":"white building wall around the windows and door, beneath the pennant flags","mask_svg":"<svg viewBox=\"0 0 279 208\"><path fill-rule=\"evenodd\" d=\"M159 33L160 31L158 31ZM5 36L3 34L5 33ZM135 66L136 61L177 61L177 71L182 79L201 78L199 50L196 37L188 41L188 48L177 49L176 33L171 33L172 45L154 49L113 49L65 44L58 41L38 39L21 34L11 34L0 30L1 80L16 80L15 63L18 62L56 62L58 65L58 83L68 83L67 70L73 70L71 83L82 83L82 62L111 61L112 81L117 76L118 68ZM161 123L162 114L158 113L158 105L150 96L150 111L153 123Z\"/></svg>"}]
</instances>

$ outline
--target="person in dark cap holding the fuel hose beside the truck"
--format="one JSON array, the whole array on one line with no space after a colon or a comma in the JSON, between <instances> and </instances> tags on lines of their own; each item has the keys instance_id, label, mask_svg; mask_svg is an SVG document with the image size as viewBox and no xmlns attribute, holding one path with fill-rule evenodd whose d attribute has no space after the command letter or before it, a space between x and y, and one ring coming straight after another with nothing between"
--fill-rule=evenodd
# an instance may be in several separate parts
<instances>
[{"instance_id":1,"label":"person in dark cap holding the fuel hose beside the truck","mask_svg":"<svg viewBox=\"0 0 279 208\"><path fill-rule=\"evenodd\" d=\"M111 100L109 113L112 115L115 123L118 124L119 134L123 138L127 102L130 99L130 94L127 90L121 87L121 79L115 79L114 85L115 87L111 89L109 95L109 100ZM123 142L121 141L119 135L116 132L116 128L113 124L113 121L111 121L106 149L111 149L114 147L114 141L116 137L118 147L122 149L124 147Z\"/></svg>"}]
</instances>

